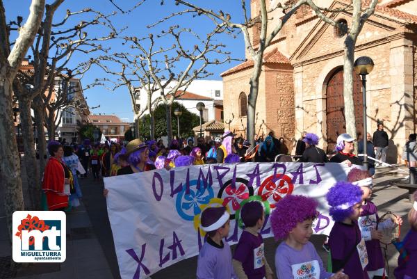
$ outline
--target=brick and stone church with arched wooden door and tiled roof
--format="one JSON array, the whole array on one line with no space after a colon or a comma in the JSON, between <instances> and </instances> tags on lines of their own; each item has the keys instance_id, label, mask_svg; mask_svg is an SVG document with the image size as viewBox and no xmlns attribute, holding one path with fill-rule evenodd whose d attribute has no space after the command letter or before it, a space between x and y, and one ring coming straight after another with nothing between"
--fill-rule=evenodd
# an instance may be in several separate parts
<instances>
[{"instance_id":1,"label":"brick and stone church with arched wooden door and tiled roof","mask_svg":"<svg viewBox=\"0 0 417 279\"><path fill-rule=\"evenodd\" d=\"M259 0L251 1L252 16ZM344 0L319 6L345 7ZM322 3L321 3L322 2ZM276 4L277 0L267 3ZM275 12L277 13L277 12ZM280 15L272 15L279 18ZM334 15L351 24L351 10ZM269 26L274 26L274 22ZM252 29L259 38L259 29ZM320 21L302 6L265 51L256 104L255 134L274 131L293 148L302 131L320 136L320 147L332 152L338 134L345 132L343 116L343 41L334 26ZM258 39L259 40L259 39ZM256 44L256 41L254 41ZM416 132L417 109L417 0L379 1L357 40L355 57L370 56L375 63L367 79L370 134L383 122L389 134L389 160L399 161L402 146ZM224 122L245 136L247 95L253 61L223 72ZM361 80L354 74L354 101L358 137L362 135Z\"/></svg>"}]
</instances>

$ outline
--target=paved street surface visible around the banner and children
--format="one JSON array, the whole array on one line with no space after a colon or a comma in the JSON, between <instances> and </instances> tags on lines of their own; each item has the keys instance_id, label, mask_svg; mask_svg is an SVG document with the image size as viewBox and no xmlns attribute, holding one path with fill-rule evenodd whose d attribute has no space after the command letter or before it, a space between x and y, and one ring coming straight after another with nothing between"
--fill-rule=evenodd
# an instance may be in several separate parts
<instances>
[{"instance_id":1,"label":"paved street surface visible around the banner and children","mask_svg":"<svg viewBox=\"0 0 417 279\"><path fill-rule=\"evenodd\" d=\"M387 185L389 180L398 177L381 177L376 180L377 185L373 195L373 201L382 215L387 211L400 214L404 218L402 232L407 232L407 212L411 208L407 191L395 186ZM92 178L81 180L83 190L83 205L67 214L67 260L63 264L36 264L27 268L20 268L15 272L15 277L24 279L46 278L120 278L113 237L106 211L106 200L101 195L104 188L103 182L94 182ZM2 191L2 190L0 190ZM2 192L0 192L0 196ZM10 257L10 247L5 229L3 207L0 207L0 259ZM313 236L311 241L322 256L323 262L327 262L327 255L321 248L323 236ZM265 239L265 254L268 263L275 270L274 256L277 243L273 239ZM233 247L232 247L233 248ZM396 266L398 253L393 246L387 250L390 271ZM166 278L195 278L197 268L196 257L183 260L174 266L167 267L152 275L152 279ZM1 273L3 274L3 273ZM11 278L10 275L0 278ZM6 273L4 273L6 274ZM389 276L393 278L393 276Z\"/></svg>"}]
</instances>

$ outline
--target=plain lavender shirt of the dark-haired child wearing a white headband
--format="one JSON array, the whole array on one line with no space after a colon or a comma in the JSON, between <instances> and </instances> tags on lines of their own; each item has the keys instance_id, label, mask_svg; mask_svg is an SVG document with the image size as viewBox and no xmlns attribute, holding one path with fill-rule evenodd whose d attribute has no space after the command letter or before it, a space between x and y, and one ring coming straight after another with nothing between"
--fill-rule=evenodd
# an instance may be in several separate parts
<instances>
[{"instance_id":1,"label":"plain lavender shirt of the dark-haired child wearing a white headband","mask_svg":"<svg viewBox=\"0 0 417 279\"><path fill-rule=\"evenodd\" d=\"M198 255L197 279L238 279L231 265L231 250L226 241L222 248L210 238Z\"/></svg>"}]
</instances>

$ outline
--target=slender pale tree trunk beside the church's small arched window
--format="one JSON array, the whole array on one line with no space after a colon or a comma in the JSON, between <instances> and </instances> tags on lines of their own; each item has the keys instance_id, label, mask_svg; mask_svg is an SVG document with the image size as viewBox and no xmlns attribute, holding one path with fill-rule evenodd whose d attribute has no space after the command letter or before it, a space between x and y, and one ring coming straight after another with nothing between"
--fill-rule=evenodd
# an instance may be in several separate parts
<instances>
[{"instance_id":1,"label":"slender pale tree trunk beside the church's small arched window","mask_svg":"<svg viewBox=\"0 0 417 279\"><path fill-rule=\"evenodd\" d=\"M247 140L252 146L255 146L255 117L256 117L256 100L258 99L259 91L259 76L262 70L263 53L254 59L254 72L250 78L250 93L247 97L247 122L246 122L246 136Z\"/></svg>"}]
</instances>

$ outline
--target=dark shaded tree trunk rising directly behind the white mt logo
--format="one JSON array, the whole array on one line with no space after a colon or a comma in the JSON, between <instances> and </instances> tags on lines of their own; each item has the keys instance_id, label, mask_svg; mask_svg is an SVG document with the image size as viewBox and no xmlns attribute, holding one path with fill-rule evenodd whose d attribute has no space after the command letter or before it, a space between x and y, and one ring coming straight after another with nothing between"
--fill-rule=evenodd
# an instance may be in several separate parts
<instances>
[{"instance_id":1,"label":"dark shaded tree trunk rising directly behind the white mt logo","mask_svg":"<svg viewBox=\"0 0 417 279\"><path fill-rule=\"evenodd\" d=\"M40 209L40 173L35 155L35 141L33 140L33 126L31 115L31 99L18 95L20 125L22 126L22 138L24 145L24 167L28 183L29 200L31 210Z\"/></svg>"}]
</instances>

